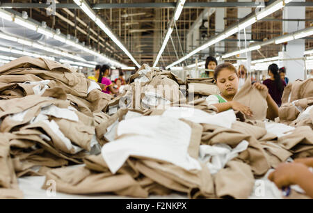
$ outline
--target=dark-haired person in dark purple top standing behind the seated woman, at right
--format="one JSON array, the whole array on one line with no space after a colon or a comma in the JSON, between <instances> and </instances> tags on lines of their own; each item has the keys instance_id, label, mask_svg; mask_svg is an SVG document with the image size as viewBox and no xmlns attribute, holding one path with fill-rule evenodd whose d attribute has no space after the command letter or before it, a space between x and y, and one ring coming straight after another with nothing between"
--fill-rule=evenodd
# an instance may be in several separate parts
<instances>
[{"instance_id":1,"label":"dark-haired person in dark purple top standing behind the seated woman, at right","mask_svg":"<svg viewBox=\"0 0 313 213\"><path fill-rule=\"evenodd\" d=\"M272 63L268 66L268 75L270 78L263 81L263 84L268 88L268 93L273 97L278 107L280 107L282 105L282 93L284 92L286 83L280 79L277 64Z\"/></svg>"}]
</instances>

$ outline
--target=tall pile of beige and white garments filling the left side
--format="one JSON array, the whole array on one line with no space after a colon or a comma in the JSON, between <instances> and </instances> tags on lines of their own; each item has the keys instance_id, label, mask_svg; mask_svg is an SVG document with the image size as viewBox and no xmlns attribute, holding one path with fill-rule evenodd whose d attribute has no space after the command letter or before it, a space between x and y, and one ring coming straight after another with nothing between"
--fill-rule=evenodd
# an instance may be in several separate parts
<instances>
[{"instance_id":1,"label":"tall pile of beige and white garments filling the left side","mask_svg":"<svg viewBox=\"0 0 313 213\"><path fill-rule=\"evenodd\" d=\"M111 98L83 74L45 58L0 67L0 191L9 190L0 197L22 196L17 177L82 164L99 153L95 126L109 119Z\"/></svg>"}]
</instances>

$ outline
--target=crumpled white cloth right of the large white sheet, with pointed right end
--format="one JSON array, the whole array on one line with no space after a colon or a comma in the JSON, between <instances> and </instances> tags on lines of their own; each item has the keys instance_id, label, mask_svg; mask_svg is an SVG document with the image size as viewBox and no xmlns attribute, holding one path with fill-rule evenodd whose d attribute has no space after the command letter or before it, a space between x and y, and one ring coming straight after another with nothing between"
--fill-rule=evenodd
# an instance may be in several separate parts
<instances>
[{"instance_id":1,"label":"crumpled white cloth right of the large white sheet, with pointed right end","mask_svg":"<svg viewBox=\"0 0 313 213\"><path fill-rule=\"evenodd\" d=\"M239 152L248 148L248 141L241 141L234 149L225 143L214 145L200 145L199 160L207 164L211 174L215 174L224 168L228 161L237 157Z\"/></svg>"}]
</instances>

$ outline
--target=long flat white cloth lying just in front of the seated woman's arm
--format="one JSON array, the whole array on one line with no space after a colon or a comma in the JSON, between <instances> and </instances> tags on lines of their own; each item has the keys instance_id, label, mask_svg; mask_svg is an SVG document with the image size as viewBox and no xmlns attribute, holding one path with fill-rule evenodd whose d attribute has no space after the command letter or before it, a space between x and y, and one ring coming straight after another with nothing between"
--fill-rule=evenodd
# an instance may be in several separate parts
<instances>
[{"instance_id":1,"label":"long flat white cloth lying just in front of the seated woman's arm","mask_svg":"<svg viewBox=\"0 0 313 213\"><path fill-rule=\"evenodd\" d=\"M207 113L200 109L188 107L170 107L162 116L172 118L184 118L193 123L207 123L210 125L218 125L220 127L231 128L232 123L236 121L236 115L232 109L221 113Z\"/></svg>"}]
</instances>

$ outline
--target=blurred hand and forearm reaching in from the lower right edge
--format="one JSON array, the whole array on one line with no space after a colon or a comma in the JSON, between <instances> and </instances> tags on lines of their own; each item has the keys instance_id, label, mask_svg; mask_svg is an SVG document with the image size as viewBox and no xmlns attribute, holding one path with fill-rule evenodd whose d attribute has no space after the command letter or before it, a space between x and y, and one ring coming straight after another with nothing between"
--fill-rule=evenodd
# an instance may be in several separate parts
<instances>
[{"instance_id":1,"label":"blurred hand and forearm reaching in from the lower right edge","mask_svg":"<svg viewBox=\"0 0 313 213\"><path fill-rule=\"evenodd\" d=\"M279 164L268 179L280 189L297 184L307 196L313 198L313 173L309 167L313 167L313 157L295 159L292 163Z\"/></svg>"}]
</instances>

